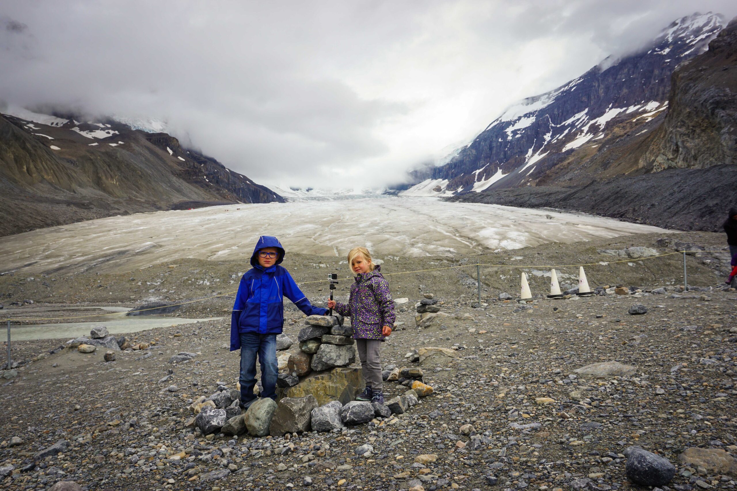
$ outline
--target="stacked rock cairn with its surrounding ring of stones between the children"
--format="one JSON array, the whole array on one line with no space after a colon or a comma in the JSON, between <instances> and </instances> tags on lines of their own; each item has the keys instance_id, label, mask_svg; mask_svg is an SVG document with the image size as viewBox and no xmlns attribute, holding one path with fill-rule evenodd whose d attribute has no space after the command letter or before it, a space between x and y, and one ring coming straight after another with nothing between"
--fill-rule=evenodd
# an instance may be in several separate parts
<instances>
[{"instance_id":1,"label":"stacked rock cairn with its surrounding ring of stones between the children","mask_svg":"<svg viewBox=\"0 0 737 491\"><path fill-rule=\"evenodd\" d=\"M359 367L349 367L356 361L353 328L344 326L343 317L338 315L310 316L305 324L297 336L299 350L289 353L287 366L280 370L278 403L258 399L242 411L240 390L218 383L217 392L192 401L192 417L186 425L208 438L219 432L248 433L253 437L282 437L304 431L340 432L346 431L346 425L378 425L433 393L432 387L422 383L421 369L389 365L383 370L384 380L407 386L405 393L385 404L354 400L365 381ZM282 349L293 344L289 338L278 342Z\"/></svg>"}]
</instances>

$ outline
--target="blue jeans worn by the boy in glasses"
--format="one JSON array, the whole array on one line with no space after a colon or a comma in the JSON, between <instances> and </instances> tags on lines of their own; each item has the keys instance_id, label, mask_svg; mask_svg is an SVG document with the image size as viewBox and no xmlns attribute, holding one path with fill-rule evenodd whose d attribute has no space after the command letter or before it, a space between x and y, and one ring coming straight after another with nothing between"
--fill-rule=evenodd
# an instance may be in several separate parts
<instances>
[{"instance_id":1,"label":"blue jeans worn by the boy in glasses","mask_svg":"<svg viewBox=\"0 0 737 491\"><path fill-rule=\"evenodd\" d=\"M262 398L276 400L276 334L240 333L240 403L250 406L256 399L256 355L261 366Z\"/></svg>"}]
</instances>

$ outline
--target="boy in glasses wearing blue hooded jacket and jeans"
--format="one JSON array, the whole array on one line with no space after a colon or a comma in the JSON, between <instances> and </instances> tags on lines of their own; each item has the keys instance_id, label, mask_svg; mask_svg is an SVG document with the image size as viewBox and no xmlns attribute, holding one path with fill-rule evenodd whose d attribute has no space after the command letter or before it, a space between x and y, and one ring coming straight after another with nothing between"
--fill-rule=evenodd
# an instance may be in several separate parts
<instances>
[{"instance_id":1,"label":"boy in glasses wearing blue hooded jacket and jeans","mask_svg":"<svg viewBox=\"0 0 737 491\"><path fill-rule=\"evenodd\" d=\"M231 316L231 351L240 349L240 406L247 409L256 400L256 354L261 365L262 398L276 400L276 335L284 325L282 297L307 315L326 315L326 308L313 307L299 290L287 269L284 247L279 239L261 236L256 242L251 266L240 279Z\"/></svg>"}]
</instances>

